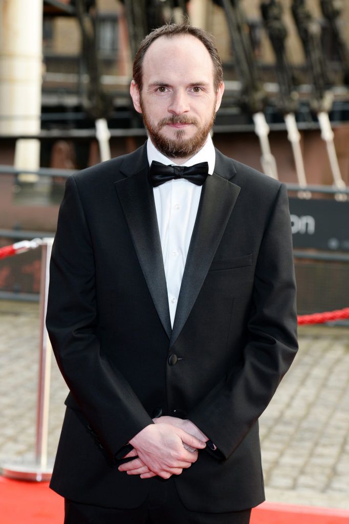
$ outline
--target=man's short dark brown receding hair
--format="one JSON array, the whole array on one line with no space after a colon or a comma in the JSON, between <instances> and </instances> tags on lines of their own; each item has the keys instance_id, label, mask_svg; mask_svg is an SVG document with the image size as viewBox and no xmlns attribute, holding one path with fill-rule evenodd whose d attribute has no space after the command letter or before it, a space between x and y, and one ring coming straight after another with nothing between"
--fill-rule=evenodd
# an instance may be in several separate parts
<instances>
[{"instance_id":1,"label":"man's short dark brown receding hair","mask_svg":"<svg viewBox=\"0 0 349 524\"><path fill-rule=\"evenodd\" d=\"M216 92L218 91L219 86L223 82L223 68L222 60L214 44L213 36L209 32L204 31L199 27L192 27L187 22L183 24L165 24L164 26L158 27L157 29L154 29L154 31L151 31L149 35L147 35L144 40L140 42L140 46L133 62L133 80L137 84L139 91L141 91L143 88L144 55L150 44L160 36L172 38L174 36L181 35L191 35L195 38L198 38L198 40L200 40L205 48L209 51L214 69L214 89Z\"/></svg>"}]
</instances>

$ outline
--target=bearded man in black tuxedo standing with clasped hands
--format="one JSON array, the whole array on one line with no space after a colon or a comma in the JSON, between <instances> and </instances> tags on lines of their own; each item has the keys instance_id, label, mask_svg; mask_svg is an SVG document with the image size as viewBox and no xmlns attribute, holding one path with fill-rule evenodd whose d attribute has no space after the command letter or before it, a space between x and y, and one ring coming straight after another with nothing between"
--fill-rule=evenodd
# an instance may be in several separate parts
<instances>
[{"instance_id":1,"label":"bearded man in black tuxedo standing with clasped hands","mask_svg":"<svg viewBox=\"0 0 349 524\"><path fill-rule=\"evenodd\" d=\"M223 90L210 35L152 31L146 144L67 180L47 313L67 524L246 524L264 500L258 417L297 352L290 218L282 184L214 148Z\"/></svg>"}]
</instances>

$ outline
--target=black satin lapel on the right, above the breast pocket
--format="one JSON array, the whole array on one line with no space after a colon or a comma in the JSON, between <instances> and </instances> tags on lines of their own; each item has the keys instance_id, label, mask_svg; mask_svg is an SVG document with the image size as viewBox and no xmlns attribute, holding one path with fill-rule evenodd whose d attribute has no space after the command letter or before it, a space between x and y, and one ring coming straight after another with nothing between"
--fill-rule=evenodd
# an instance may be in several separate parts
<instances>
[{"instance_id":1,"label":"black satin lapel on the right, above the breast pocket","mask_svg":"<svg viewBox=\"0 0 349 524\"><path fill-rule=\"evenodd\" d=\"M202 188L197 219L189 246L174 318L170 346L176 342L198 297L240 188L217 174Z\"/></svg>"}]
</instances>

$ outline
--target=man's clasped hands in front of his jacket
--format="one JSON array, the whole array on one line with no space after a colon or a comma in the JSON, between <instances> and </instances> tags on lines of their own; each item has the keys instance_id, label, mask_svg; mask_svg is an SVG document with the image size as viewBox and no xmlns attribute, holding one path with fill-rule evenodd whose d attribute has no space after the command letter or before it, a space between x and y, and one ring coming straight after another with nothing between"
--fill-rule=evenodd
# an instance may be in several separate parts
<instances>
[{"instance_id":1,"label":"man's clasped hands in front of his jacket","mask_svg":"<svg viewBox=\"0 0 349 524\"><path fill-rule=\"evenodd\" d=\"M119 466L119 471L140 478L180 475L197 461L198 450L209 440L190 420L159 417L153 421L129 441L133 450L124 458L136 458Z\"/></svg>"}]
</instances>

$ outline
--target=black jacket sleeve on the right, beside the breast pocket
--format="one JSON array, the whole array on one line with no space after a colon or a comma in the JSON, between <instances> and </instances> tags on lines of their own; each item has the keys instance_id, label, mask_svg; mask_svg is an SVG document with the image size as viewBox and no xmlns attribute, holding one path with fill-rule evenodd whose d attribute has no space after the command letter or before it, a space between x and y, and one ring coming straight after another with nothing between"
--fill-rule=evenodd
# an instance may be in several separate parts
<instances>
[{"instance_id":1,"label":"black jacket sleeve on the right, beside the breast pocket","mask_svg":"<svg viewBox=\"0 0 349 524\"><path fill-rule=\"evenodd\" d=\"M296 283L285 185L280 185L257 257L253 308L243 364L197 405L188 419L226 459L265 410L298 350Z\"/></svg>"}]
</instances>

